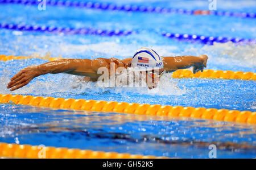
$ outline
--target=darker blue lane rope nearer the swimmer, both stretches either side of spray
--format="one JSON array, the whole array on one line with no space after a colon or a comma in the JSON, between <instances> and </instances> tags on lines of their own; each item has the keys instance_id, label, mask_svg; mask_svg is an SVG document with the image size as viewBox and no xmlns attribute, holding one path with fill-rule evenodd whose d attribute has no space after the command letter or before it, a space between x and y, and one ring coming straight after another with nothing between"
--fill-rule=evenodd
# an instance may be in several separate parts
<instances>
[{"instance_id":1,"label":"darker blue lane rope nearer the swimmer, both stretches either side of spray","mask_svg":"<svg viewBox=\"0 0 256 170\"><path fill-rule=\"evenodd\" d=\"M7 30L17 30L17 31L38 31L38 32L48 32L53 34L65 34L65 35L99 35L99 36L127 36L130 34L138 34L139 31L122 31L122 30L100 30L95 28L60 28L60 27L47 27L47 26L30 26L24 24L5 24L0 23L0 28ZM200 36L200 35L189 35L189 34L172 34L163 32L161 34L167 38L187 41L187 42L197 42L201 44L213 45L214 42L217 43L240 43L240 44L256 44L254 39L241 39L241 38L225 38L225 37L213 37L213 36Z\"/></svg>"}]
</instances>

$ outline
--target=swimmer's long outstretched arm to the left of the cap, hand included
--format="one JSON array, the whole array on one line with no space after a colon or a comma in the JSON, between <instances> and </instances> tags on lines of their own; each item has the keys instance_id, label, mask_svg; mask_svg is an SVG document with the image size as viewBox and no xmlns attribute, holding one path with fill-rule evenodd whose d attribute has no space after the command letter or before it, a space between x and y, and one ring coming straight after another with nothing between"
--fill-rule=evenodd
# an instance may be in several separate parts
<instances>
[{"instance_id":1,"label":"swimmer's long outstretched arm to the left of the cap, hand included","mask_svg":"<svg viewBox=\"0 0 256 170\"><path fill-rule=\"evenodd\" d=\"M63 59L50 61L41 65L30 66L22 69L13 78L11 78L7 88L11 91L22 88L27 85L33 78L43 74L57 74L68 73L79 76L86 76L91 78L98 78L98 68L109 68L109 63L115 62L114 59L98 58L94 60L89 59Z\"/></svg>"}]
</instances>

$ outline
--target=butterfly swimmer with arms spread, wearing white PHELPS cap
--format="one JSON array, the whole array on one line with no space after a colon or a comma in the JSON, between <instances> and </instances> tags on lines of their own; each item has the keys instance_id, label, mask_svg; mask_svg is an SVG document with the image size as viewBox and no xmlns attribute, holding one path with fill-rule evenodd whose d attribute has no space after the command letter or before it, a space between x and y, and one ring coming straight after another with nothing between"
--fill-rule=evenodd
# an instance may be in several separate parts
<instances>
[{"instance_id":1,"label":"butterfly swimmer with arms spread, wearing white PHELPS cap","mask_svg":"<svg viewBox=\"0 0 256 170\"><path fill-rule=\"evenodd\" d=\"M10 79L7 88L11 91L22 88L33 78L44 74L67 73L77 76L85 76L86 81L97 81L102 74L98 74L98 69L105 67L110 73L110 63L114 64L114 69L119 67L125 69L132 67L138 72L147 74L146 83L149 89L158 85L160 77L164 73L174 72L177 69L193 67L193 73L203 72L207 67L207 55L201 56L176 56L162 57L154 50L143 47L135 52L133 57L119 60L115 58L105 59L62 59L49 61L47 63L30 66L22 69L19 73ZM110 74L109 74L110 76ZM149 77L149 78L148 78ZM149 80L150 79L150 80Z\"/></svg>"}]
</instances>

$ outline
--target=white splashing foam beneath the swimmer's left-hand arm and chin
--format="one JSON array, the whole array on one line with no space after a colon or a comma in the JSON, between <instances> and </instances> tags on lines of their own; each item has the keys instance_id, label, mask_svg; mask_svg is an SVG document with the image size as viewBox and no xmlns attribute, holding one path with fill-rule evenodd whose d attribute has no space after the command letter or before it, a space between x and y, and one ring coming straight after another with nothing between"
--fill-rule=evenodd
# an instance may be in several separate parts
<instances>
[{"instance_id":1,"label":"white splashing foam beneath the swimmer's left-hand arm and chin","mask_svg":"<svg viewBox=\"0 0 256 170\"><path fill-rule=\"evenodd\" d=\"M9 71L4 71L9 72ZM133 93L133 94L147 94L158 96L168 96L168 95L182 95L185 94L185 89L180 89L176 82L171 80L171 75L167 74L162 76L159 82L159 86L156 89L148 89L146 84L143 84L144 81L137 81L135 84L116 84L115 87L109 88L104 87L101 82L85 82L82 76L72 76L67 74L61 74L58 78L36 78L37 80L32 81L30 84L10 92L6 88L8 82L10 81L10 73L4 74L0 77L0 94L34 94L38 96L47 96L55 93L69 93L69 94L81 94L86 93L113 93L113 94L122 94ZM53 76L53 75L49 75ZM137 78L138 79L138 78Z\"/></svg>"}]
</instances>

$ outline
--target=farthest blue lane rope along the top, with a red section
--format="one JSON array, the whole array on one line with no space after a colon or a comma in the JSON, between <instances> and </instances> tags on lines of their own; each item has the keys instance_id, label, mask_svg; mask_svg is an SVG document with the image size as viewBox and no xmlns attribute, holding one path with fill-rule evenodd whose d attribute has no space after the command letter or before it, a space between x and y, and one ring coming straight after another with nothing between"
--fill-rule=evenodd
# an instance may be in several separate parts
<instances>
[{"instance_id":1,"label":"farthest blue lane rope along the top, with a red section","mask_svg":"<svg viewBox=\"0 0 256 170\"><path fill-rule=\"evenodd\" d=\"M0 3L17 3L22 5L38 5L40 2L36 0L0 0ZM138 6L138 5L115 5L113 3L101 2L77 2L77 1L60 1L60 0L47 0L47 5L52 6L65 6L65 7L79 7L88 9L99 10L116 10L126 12L142 12L142 13L172 13L172 14L188 14L188 15L217 15L217 16L235 16L240 18L256 18L255 13L241 13L230 11L208 11L208 10L185 10L185 9L172 9L165 7L152 7L152 6Z\"/></svg>"}]
</instances>

